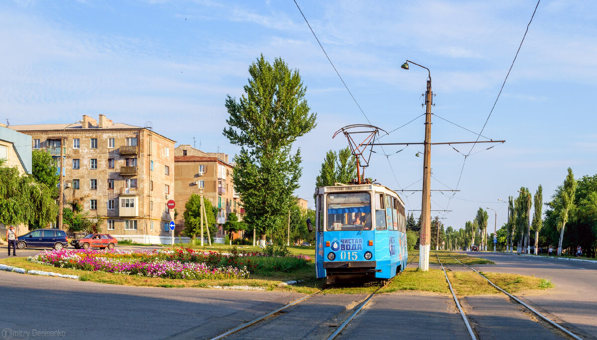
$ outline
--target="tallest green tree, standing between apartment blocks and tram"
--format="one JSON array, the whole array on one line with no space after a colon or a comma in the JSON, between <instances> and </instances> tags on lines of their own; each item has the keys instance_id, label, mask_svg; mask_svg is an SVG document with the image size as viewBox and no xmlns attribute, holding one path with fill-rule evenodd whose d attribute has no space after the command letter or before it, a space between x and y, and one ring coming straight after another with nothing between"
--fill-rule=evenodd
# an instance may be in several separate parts
<instances>
[{"instance_id":1,"label":"tallest green tree, standing between apartment blocks and tram","mask_svg":"<svg viewBox=\"0 0 597 340\"><path fill-rule=\"evenodd\" d=\"M244 220L257 228L264 246L266 234L287 217L296 198L301 176L300 149L293 154L296 139L315 127L298 70L284 60L273 63L263 55L249 66L245 94L237 101L227 96L229 117L223 134L241 146L233 174L236 192L245 207Z\"/></svg>"}]
</instances>

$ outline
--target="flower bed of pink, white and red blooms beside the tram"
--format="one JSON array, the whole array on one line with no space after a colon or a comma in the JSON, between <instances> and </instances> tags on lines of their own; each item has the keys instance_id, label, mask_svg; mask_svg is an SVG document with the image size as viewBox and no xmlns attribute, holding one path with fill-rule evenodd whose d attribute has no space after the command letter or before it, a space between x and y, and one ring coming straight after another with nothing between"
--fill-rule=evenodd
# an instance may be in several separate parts
<instances>
[{"instance_id":1,"label":"flower bed of pink, white and red blooms beside the tram","mask_svg":"<svg viewBox=\"0 0 597 340\"><path fill-rule=\"evenodd\" d=\"M198 252L184 248L153 252L61 249L28 259L60 268L186 280L248 278L250 272L292 271L310 261L309 256L303 255L281 258L258 252Z\"/></svg>"}]
</instances>

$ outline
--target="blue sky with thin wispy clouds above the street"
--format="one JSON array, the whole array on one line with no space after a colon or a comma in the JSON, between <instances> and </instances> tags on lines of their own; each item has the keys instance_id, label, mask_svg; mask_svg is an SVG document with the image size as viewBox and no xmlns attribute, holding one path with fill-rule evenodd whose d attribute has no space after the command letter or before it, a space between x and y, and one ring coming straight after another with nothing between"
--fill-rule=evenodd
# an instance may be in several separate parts
<instances>
[{"instance_id":1,"label":"blue sky with thin wispy clouds above the street","mask_svg":"<svg viewBox=\"0 0 597 340\"><path fill-rule=\"evenodd\" d=\"M338 72L371 121L391 131L424 113L427 73L433 113L480 131L512 63L536 1L297 0ZM484 136L506 143L467 158L458 189L432 194L432 209L460 228L479 207L506 220L521 186L544 200L565 178L597 171L593 97L597 2L541 1ZM234 155L221 134L227 94L239 97L248 65L263 53L300 70L318 126L296 143L303 154L297 195L310 200L334 131L365 123L291 0L4 1L0 4L0 118L11 124L73 122L105 114L144 125L204 151ZM433 142L475 140L433 117ZM423 117L382 139L421 142ZM485 146L485 145L484 145ZM470 147L456 147L466 153ZM401 148L387 147L387 154ZM484 147L476 146L481 151ZM375 149L380 152L381 150ZM420 146L374 154L367 176L393 189L420 189ZM473 151L475 152L475 151ZM390 170L392 164L394 173ZM463 156L432 150L432 188L456 188ZM395 175L395 176L394 176ZM402 195L420 209L418 193ZM418 215L418 212L416 212ZM489 225L494 215L490 211Z\"/></svg>"}]
</instances>

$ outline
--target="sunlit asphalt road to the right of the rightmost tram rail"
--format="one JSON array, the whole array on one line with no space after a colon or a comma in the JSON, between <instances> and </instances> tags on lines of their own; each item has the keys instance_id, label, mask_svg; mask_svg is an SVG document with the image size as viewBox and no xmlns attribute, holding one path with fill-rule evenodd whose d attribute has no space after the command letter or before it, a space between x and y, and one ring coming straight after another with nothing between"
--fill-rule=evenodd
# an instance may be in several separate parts
<instances>
[{"instance_id":1,"label":"sunlit asphalt road to the right of the rightmost tram rail","mask_svg":"<svg viewBox=\"0 0 597 340\"><path fill-rule=\"evenodd\" d=\"M467 255L496 263L472 266L478 271L550 279L555 288L516 296L584 339L597 339L597 263L482 252L467 252ZM450 269L470 270L454 265Z\"/></svg>"}]
</instances>

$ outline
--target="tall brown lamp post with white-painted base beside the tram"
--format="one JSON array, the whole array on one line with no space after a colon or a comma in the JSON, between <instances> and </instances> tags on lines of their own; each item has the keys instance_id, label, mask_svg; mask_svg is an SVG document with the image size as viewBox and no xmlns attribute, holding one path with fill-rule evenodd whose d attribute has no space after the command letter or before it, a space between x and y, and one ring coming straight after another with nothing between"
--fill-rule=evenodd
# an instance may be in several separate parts
<instances>
[{"instance_id":1,"label":"tall brown lamp post with white-painted base beside the tram","mask_svg":"<svg viewBox=\"0 0 597 340\"><path fill-rule=\"evenodd\" d=\"M408 63L413 63L407 60L402 66L402 69L408 70ZM420 66L427 70L429 74L427 77L427 91L425 92L425 141L423 151L423 191L421 195L421 238L419 244L418 268L422 271L429 271L429 250L431 247L431 106L433 93L431 91L431 71L428 68L417 63L414 65Z\"/></svg>"}]
</instances>

